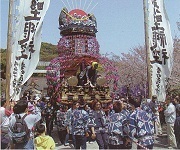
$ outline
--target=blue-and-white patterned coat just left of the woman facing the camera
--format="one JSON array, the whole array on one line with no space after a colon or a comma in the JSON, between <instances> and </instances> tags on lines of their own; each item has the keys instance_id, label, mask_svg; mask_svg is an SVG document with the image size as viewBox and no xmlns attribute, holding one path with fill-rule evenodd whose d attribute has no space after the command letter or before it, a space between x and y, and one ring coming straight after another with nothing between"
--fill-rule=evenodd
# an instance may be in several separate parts
<instances>
[{"instance_id":1,"label":"blue-and-white patterned coat just left of the woman facing the camera","mask_svg":"<svg viewBox=\"0 0 180 150\"><path fill-rule=\"evenodd\" d=\"M74 135L85 135L85 133L88 132L88 113L85 110L74 110L71 117L71 123Z\"/></svg>"}]
</instances>

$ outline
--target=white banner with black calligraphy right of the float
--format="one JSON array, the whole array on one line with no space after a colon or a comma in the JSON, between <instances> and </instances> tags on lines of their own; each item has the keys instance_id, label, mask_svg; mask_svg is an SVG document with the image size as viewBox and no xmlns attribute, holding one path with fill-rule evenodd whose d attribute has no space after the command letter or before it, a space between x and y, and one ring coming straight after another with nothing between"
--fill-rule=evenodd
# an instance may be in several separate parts
<instances>
[{"instance_id":1,"label":"white banner with black calligraphy right of the float","mask_svg":"<svg viewBox=\"0 0 180 150\"><path fill-rule=\"evenodd\" d=\"M163 0L148 0L148 34L152 95L165 101L166 87L173 66L173 40Z\"/></svg>"}]
</instances>

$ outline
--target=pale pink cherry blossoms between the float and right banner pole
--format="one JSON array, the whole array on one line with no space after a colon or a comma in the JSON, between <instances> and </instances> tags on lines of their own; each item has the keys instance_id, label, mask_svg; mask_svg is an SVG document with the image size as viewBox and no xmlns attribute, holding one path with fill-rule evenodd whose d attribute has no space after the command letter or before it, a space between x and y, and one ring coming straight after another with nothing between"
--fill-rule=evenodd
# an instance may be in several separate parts
<instances>
[{"instance_id":1,"label":"pale pink cherry blossoms between the float and right banner pole","mask_svg":"<svg viewBox=\"0 0 180 150\"><path fill-rule=\"evenodd\" d=\"M130 52L122 53L119 59L119 85L121 93L129 92L133 95L147 93L147 65L145 47L132 48Z\"/></svg>"}]
</instances>

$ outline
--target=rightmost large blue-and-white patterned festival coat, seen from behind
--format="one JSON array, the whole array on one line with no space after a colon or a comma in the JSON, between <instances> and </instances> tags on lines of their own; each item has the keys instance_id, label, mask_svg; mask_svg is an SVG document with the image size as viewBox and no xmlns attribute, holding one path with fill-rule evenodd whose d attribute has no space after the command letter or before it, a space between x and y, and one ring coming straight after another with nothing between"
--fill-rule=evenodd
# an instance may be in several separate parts
<instances>
[{"instance_id":1,"label":"rightmost large blue-and-white patterned festival coat, seen from behind","mask_svg":"<svg viewBox=\"0 0 180 150\"><path fill-rule=\"evenodd\" d=\"M143 146L154 144L154 123L148 113L136 108L129 118L130 137L138 139Z\"/></svg>"}]
</instances>

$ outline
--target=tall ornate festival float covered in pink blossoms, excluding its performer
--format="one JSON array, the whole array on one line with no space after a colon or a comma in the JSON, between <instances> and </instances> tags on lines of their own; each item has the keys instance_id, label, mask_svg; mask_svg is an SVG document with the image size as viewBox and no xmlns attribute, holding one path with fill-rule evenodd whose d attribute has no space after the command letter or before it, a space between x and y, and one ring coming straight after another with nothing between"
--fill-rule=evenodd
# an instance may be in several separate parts
<instances>
[{"instance_id":1,"label":"tall ornate festival float covered in pink blossoms, excluding its performer","mask_svg":"<svg viewBox=\"0 0 180 150\"><path fill-rule=\"evenodd\" d=\"M94 99L102 103L112 101L119 76L115 62L100 54L95 16L81 9L68 11L63 8L59 15L59 30L62 36L57 45L59 56L47 67L48 94L62 104L81 98L87 103ZM78 75L93 62L98 64L96 84L79 85Z\"/></svg>"}]
</instances>

